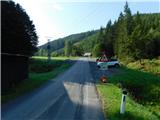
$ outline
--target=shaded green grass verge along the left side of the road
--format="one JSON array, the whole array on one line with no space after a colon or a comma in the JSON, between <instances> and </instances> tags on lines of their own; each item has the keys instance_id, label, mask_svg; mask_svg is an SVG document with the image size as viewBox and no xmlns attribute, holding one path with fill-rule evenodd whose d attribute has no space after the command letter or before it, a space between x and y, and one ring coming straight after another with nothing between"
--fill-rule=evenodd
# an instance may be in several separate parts
<instances>
[{"instance_id":1,"label":"shaded green grass verge along the left side of the road","mask_svg":"<svg viewBox=\"0 0 160 120\"><path fill-rule=\"evenodd\" d=\"M33 58L30 61L29 78L11 88L5 95L2 95L1 102L6 103L34 90L48 80L55 78L70 66L64 58L52 60L50 63L45 58Z\"/></svg>"}]
</instances>

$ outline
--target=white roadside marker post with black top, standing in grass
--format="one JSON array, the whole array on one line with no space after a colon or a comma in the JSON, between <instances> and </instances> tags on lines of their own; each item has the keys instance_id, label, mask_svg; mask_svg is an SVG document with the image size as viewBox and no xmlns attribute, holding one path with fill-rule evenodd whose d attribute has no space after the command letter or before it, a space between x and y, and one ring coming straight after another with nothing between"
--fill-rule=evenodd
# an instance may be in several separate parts
<instances>
[{"instance_id":1,"label":"white roadside marker post with black top, standing in grass","mask_svg":"<svg viewBox=\"0 0 160 120\"><path fill-rule=\"evenodd\" d=\"M127 91L123 90L122 100L121 100L120 114L124 114L124 112L125 112L126 96L127 96Z\"/></svg>"}]
</instances>

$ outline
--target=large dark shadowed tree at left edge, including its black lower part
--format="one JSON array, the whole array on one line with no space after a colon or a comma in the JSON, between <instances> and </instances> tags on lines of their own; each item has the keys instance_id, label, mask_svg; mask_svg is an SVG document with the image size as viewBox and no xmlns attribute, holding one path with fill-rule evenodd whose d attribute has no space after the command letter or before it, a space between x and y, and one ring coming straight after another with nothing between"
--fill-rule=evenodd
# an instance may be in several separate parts
<instances>
[{"instance_id":1,"label":"large dark shadowed tree at left edge, including its black lower part","mask_svg":"<svg viewBox=\"0 0 160 120\"><path fill-rule=\"evenodd\" d=\"M1 1L1 23L2 90L5 94L28 78L28 58L37 50L38 41L29 16L13 1Z\"/></svg>"}]
</instances>

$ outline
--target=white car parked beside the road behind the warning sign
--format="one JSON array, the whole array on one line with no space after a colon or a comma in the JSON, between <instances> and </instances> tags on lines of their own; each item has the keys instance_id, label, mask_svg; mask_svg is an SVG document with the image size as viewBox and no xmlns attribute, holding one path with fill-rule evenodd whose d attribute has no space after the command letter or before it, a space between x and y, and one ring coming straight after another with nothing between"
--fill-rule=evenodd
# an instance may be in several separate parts
<instances>
[{"instance_id":1,"label":"white car parked beside the road behind the warning sign","mask_svg":"<svg viewBox=\"0 0 160 120\"><path fill-rule=\"evenodd\" d=\"M97 59L97 67L101 68L103 66L108 67L119 67L120 63L117 59Z\"/></svg>"}]
</instances>

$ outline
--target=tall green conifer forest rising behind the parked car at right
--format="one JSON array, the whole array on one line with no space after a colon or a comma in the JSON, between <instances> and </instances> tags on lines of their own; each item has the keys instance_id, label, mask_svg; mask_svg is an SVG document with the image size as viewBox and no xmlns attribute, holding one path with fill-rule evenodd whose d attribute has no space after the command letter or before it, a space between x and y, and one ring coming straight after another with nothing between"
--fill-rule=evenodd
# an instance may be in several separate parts
<instances>
[{"instance_id":1,"label":"tall green conifer forest rising behind the parked car at right","mask_svg":"<svg viewBox=\"0 0 160 120\"><path fill-rule=\"evenodd\" d=\"M128 4L113 24L101 28L94 55L105 51L108 57L124 59L155 58L160 56L160 13L132 15Z\"/></svg>"}]
</instances>

